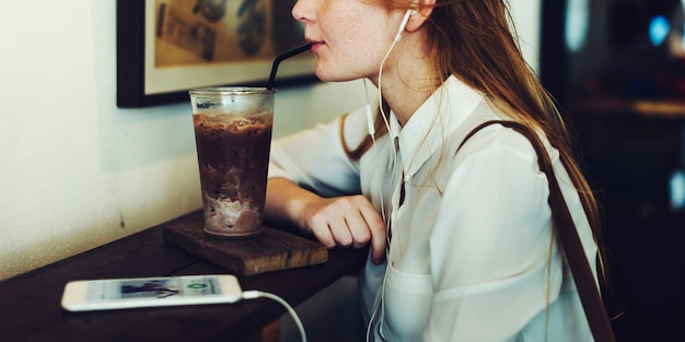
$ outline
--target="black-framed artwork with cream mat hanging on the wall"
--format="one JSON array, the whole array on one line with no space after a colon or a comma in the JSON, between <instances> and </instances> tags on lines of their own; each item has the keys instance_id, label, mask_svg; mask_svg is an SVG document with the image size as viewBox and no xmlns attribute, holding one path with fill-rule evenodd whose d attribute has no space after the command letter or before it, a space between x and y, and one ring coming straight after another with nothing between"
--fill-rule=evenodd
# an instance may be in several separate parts
<instances>
[{"instance_id":1,"label":"black-framed artwork with cream mat hanging on the wall","mask_svg":"<svg viewBox=\"0 0 685 342\"><path fill-rule=\"evenodd\" d=\"M117 106L188 101L189 89L266 85L303 46L295 0L117 0ZM315 82L314 57L280 63L277 87Z\"/></svg>"}]
</instances>

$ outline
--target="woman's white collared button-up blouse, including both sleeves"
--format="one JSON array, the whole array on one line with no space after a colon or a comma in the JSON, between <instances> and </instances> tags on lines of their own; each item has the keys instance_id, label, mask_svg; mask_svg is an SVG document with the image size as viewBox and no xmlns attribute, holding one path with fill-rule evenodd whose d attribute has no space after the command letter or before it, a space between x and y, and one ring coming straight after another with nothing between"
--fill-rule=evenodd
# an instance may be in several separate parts
<instances>
[{"instance_id":1,"label":"woman's white collared button-up blouse, including both sleeves","mask_svg":"<svg viewBox=\"0 0 685 342\"><path fill-rule=\"evenodd\" d=\"M341 118L274 142L269 177L322 196L363 193L384 215L387 261L369 260L359 278L372 340L545 341L547 333L549 341L592 341L550 234L547 178L527 139L494 125L455 154L471 129L492 119L507 117L452 76L404 127L391 114L391 133L358 162L342 150ZM363 109L350 113L347 145L365 134ZM579 197L544 141L594 271Z\"/></svg>"}]
</instances>

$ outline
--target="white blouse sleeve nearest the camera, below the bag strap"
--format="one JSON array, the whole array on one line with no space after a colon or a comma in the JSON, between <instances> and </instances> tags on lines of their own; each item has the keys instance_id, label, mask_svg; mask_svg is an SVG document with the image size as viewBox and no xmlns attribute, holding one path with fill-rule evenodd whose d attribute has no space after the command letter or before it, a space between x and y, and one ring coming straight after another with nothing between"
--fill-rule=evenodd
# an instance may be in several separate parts
<instances>
[{"instance_id":1,"label":"white blouse sleeve nearest the camera, below the bag strap","mask_svg":"<svg viewBox=\"0 0 685 342\"><path fill-rule=\"evenodd\" d=\"M547 178L523 135L487 135L488 129L478 134L485 140L474 137L458 152L465 158L430 237L436 295L427 341L513 341L546 307ZM550 300L560 286L559 260L555 249Z\"/></svg>"}]
</instances>

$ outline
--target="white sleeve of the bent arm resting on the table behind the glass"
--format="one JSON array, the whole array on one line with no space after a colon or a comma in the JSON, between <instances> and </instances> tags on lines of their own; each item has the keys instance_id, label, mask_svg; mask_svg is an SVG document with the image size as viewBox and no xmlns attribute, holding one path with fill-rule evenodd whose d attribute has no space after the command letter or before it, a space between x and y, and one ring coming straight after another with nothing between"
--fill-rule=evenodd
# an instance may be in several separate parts
<instances>
[{"instance_id":1,"label":"white sleeve of the bent arm resting on the table behind the glass","mask_svg":"<svg viewBox=\"0 0 685 342\"><path fill-rule=\"evenodd\" d=\"M363 114L363 113L362 113ZM359 125L360 111L345 119L346 138L356 148L363 137ZM328 123L316 125L293 135L277 139L271 144L269 178L285 177L322 196L360 193L359 166L349 160L340 141L342 116Z\"/></svg>"}]
</instances>

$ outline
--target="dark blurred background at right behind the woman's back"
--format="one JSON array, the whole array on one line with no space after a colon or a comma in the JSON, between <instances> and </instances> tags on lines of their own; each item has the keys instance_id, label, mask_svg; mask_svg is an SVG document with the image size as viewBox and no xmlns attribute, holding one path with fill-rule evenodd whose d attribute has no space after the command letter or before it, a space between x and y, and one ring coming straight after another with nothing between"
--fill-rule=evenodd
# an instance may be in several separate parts
<instances>
[{"instance_id":1,"label":"dark blurred background at right behind the woman's back","mask_svg":"<svg viewBox=\"0 0 685 342\"><path fill-rule=\"evenodd\" d=\"M616 338L685 341L685 215L672 205L670 187L685 165L685 63L648 35L652 17L682 13L680 0L589 0L589 42L577 51L564 40L568 1L542 1L541 79L559 102L602 207L624 309L613 321ZM676 109L637 110L638 101Z\"/></svg>"}]
</instances>

